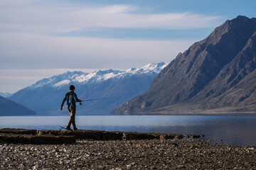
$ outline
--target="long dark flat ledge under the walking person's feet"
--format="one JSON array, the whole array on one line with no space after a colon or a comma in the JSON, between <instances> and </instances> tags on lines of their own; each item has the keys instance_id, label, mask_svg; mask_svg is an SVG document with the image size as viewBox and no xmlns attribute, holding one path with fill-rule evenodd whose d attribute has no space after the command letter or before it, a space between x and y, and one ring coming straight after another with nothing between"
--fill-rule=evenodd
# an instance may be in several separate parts
<instances>
[{"instance_id":1,"label":"long dark flat ledge under the walking person's feet","mask_svg":"<svg viewBox=\"0 0 256 170\"><path fill-rule=\"evenodd\" d=\"M119 132L102 130L25 130L0 129L0 142L21 144L70 144L76 140L169 140L199 138L203 135L178 135L166 133Z\"/></svg>"}]
</instances>

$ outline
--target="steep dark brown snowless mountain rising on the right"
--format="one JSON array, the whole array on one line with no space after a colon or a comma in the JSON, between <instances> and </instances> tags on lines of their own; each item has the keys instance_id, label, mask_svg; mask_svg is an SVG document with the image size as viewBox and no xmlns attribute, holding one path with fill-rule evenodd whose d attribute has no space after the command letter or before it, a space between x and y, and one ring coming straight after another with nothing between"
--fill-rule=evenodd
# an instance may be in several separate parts
<instances>
[{"instance_id":1,"label":"steep dark brown snowless mountain rising on the right","mask_svg":"<svg viewBox=\"0 0 256 170\"><path fill-rule=\"evenodd\" d=\"M256 111L256 18L238 16L179 53L117 113Z\"/></svg>"}]
</instances>

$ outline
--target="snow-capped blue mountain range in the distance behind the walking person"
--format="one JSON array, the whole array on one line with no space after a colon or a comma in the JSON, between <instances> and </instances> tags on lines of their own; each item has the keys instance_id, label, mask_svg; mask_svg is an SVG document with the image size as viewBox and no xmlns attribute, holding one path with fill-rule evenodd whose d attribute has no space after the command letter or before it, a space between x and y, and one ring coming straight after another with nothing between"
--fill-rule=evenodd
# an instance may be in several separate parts
<instances>
[{"instance_id":1,"label":"snow-capped blue mountain range in the distance behind the walking person","mask_svg":"<svg viewBox=\"0 0 256 170\"><path fill-rule=\"evenodd\" d=\"M69 91L70 84L73 84L75 93L81 100L105 98L83 102L83 106L77 107L79 115L107 115L113 108L122 106L125 102L147 91L154 77L164 67L166 64L160 62L148 64L141 69L132 68L126 71L109 69L92 73L65 72L42 79L16 92L10 99L41 115L67 114L67 109L60 112L59 107Z\"/></svg>"}]
</instances>

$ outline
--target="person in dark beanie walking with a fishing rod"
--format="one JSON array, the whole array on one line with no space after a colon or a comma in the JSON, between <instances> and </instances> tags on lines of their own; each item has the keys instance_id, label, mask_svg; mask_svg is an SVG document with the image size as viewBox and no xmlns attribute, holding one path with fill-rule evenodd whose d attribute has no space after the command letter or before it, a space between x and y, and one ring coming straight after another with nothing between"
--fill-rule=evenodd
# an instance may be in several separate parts
<instances>
[{"instance_id":1,"label":"person in dark beanie walking with a fishing rod","mask_svg":"<svg viewBox=\"0 0 256 170\"><path fill-rule=\"evenodd\" d=\"M63 98L63 102L60 105L60 111L63 110L63 105L65 101L67 101L68 105L68 112L70 113L70 120L68 121L67 130L71 130L70 125L72 124L73 130L78 130L75 125L75 111L76 111L76 105L75 102L81 102L80 99L78 99L77 94L75 94L75 86L70 85L70 92L65 94L65 97Z\"/></svg>"}]
</instances>

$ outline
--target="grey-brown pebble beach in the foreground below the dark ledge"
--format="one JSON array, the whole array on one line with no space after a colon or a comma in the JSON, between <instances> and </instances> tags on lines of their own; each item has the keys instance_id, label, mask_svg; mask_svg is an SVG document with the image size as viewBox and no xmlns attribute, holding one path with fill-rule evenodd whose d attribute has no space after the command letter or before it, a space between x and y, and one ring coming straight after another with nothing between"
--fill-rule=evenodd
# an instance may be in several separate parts
<instances>
[{"instance_id":1,"label":"grey-brown pebble beach in the foreground below the dark ledge","mask_svg":"<svg viewBox=\"0 0 256 170\"><path fill-rule=\"evenodd\" d=\"M64 131L65 132L65 131ZM256 147L207 140L85 140L0 144L0 169L256 169Z\"/></svg>"}]
</instances>

